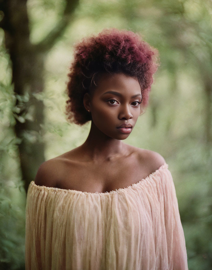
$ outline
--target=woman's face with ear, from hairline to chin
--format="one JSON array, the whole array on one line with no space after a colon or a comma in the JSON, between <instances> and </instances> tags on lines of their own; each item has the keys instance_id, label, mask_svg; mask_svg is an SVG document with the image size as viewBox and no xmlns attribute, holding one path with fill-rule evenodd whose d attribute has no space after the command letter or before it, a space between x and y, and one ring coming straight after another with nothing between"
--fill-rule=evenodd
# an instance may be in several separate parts
<instances>
[{"instance_id":1,"label":"woman's face with ear, from hairline to chin","mask_svg":"<svg viewBox=\"0 0 212 270\"><path fill-rule=\"evenodd\" d=\"M91 112L92 124L108 137L124 140L140 115L141 98L136 78L103 74L92 95L84 98L84 104Z\"/></svg>"}]
</instances>

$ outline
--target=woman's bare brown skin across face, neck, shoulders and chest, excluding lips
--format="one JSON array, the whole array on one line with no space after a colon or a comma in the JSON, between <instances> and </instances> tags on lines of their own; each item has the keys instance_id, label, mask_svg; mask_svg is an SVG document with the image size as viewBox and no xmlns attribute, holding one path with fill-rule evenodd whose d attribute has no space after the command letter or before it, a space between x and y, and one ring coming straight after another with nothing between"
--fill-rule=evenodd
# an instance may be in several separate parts
<instances>
[{"instance_id":1,"label":"woman's bare brown skin across face, neck, shoulders and chest, excluding lips","mask_svg":"<svg viewBox=\"0 0 212 270\"><path fill-rule=\"evenodd\" d=\"M156 152L123 143L140 115L141 88L134 77L103 74L84 106L92 115L89 136L83 145L40 166L35 184L95 193L116 190L139 182L165 163Z\"/></svg>"}]
</instances>

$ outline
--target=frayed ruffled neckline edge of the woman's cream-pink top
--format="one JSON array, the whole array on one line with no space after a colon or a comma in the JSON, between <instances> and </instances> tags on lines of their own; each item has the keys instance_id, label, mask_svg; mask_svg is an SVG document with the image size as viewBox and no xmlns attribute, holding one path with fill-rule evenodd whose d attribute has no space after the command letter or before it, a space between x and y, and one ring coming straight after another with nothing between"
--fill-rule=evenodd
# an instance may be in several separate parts
<instances>
[{"instance_id":1,"label":"frayed ruffled neckline edge of the woman's cream-pink top","mask_svg":"<svg viewBox=\"0 0 212 270\"><path fill-rule=\"evenodd\" d=\"M127 187L120 187L119 189L116 190L111 190L111 191L106 191L106 192L87 192L87 191L80 191L80 190L71 190L71 189L62 189L62 188L58 188L58 187L46 187L46 186L38 186L35 184L34 181L31 181L30 186L33 186L39 190L47 190L47 191L53 191L53 192L65 192L65 193L76 193L76 194L85 194L85 195L107 195L107 194L114 194L114 193L120 193L124 190L128 190L131 189L133 187L138 186L139 184L141 184L143 181L148 180L149 178L152 178L153 176L156 176L157 174L159 174L161 171L163 171L164 169L168 169L168 164L165 163L164 165L161 165L156 171L154 171L153 173L149 174L148 176L146 176L145 178L142 178L139 182L137 183L133 183Z\"/></svg>"}]
</instances>

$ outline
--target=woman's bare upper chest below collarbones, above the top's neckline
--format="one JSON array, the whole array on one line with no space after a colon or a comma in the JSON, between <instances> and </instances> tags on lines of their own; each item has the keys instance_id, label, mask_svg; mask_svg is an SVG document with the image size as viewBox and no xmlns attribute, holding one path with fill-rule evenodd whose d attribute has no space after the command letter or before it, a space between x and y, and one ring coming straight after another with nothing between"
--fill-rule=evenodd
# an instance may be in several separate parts
<instances>
[{"instance_id":1,"label":"woman's bare upper chest below collarbones, above the top's neckline","mask_svg":"<svg viewBox=\"0 0 212 270\"><path fill-rule=\"evenodd\" d=\"M148 170L136 160L84 163L66 167L59 188L95 193L124 188L148 175Z\"/></svg>"}]
</instances>

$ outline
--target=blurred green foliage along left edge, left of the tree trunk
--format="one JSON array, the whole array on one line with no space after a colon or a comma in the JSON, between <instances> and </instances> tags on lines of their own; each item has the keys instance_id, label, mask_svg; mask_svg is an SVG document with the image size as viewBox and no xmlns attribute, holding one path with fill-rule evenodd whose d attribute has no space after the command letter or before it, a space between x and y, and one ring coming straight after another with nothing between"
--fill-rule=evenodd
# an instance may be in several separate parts
<instances>
[{"instance_id":1,"label":"blurred green foliage along left edge, left of the tree trunk","mask_svg":"<svg viewBox=\"0 0 212 270\"><path fill-rule=\"evenodd\" d=\"M0 31L3 43L3 31ZM0 52L0 269L24 269L26 193L20 177L14 135L17 119L16 96L11 84L9 55L1 44Z\"/></svg>"}]
</instances>

